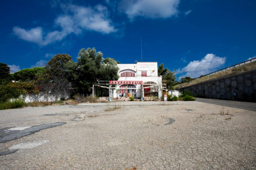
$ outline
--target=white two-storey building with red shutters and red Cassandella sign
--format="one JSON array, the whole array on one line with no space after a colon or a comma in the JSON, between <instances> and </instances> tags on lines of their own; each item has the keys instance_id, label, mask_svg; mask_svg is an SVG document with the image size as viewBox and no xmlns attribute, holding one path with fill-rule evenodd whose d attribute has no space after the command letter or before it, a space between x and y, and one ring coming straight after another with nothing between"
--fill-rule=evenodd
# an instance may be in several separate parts
<instances>
[{"instance_id":1,"label":"white two-storey building with red shutters and red Cassandella sign","mask_svg":"<svg viewBox=\"0 0 256 170\"><path fill-rule=\"evenodd\" d=\"M119 79L109 81L109 97L150 97L161 99L162 77L158 77L157 62L137 62L135 64L117 64Z\"/></svg>"}]
</instances>

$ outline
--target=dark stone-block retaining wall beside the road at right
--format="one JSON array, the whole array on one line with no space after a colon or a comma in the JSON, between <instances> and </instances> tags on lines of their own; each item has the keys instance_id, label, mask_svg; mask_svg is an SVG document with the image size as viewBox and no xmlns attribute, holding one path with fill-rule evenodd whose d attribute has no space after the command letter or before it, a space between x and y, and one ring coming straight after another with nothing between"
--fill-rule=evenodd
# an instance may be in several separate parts
<instances>
[{"instance_id":1,"label":"dark stone-block retaining wall beside the road at right","mask_svg":"<svg viewBox=\"0 0 256 170\"><path fill-rule=\"evenodd\" d=\"M256 102L256 69L180 88L180 91L185 89L197 97L228 100L232 99L235 90L238 100Z\"/></svg>"}]
</instances>

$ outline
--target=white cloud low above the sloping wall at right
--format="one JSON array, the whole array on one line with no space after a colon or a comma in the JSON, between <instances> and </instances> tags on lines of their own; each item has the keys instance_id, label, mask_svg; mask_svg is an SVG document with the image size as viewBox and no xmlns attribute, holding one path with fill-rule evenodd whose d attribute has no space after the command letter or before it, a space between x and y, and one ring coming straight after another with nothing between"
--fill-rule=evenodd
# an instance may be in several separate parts
<instances>
[{"instance_id":1,"label":"white cloud low above the sloping wall at right","mask_svg":"<svg viewBox=\"0 0 256 170\"><path fill-rule=\"evenodd\" d=\"M226 57L217 57L214 54L207 54L204 58L199 60L191 61L186 67L177 69L176 74L183 74L182 77L200 77L215 71L217 68L225 64Z\"/></svg>"}]
</instances>

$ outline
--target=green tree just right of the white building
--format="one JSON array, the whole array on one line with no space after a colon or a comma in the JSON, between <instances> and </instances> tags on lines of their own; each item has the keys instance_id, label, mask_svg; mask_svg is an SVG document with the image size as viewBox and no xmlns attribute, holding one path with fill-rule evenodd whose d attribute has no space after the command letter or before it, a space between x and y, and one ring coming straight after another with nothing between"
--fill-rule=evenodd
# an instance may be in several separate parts
<instances>
[{"instance_id":1,"label":"green tree just right of the white building","mask_svg":"<svg viewBox=\"0 0 256 170\"><path fill-rule=\"evenodd\" d=\"M163 63L158 66L158 76L162 76L162 79L166 81L166 88L171 90L176 83L175 71L170 71L168 68L163 67Z\"/></svg>"}]
</instances>

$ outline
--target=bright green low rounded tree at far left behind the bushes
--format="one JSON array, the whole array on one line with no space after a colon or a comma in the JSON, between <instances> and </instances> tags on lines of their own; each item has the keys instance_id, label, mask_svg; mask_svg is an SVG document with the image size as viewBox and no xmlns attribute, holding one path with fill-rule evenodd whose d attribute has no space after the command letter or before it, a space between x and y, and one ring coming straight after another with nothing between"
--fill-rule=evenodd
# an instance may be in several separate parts
<instances>
[{"instance_id":1,"label":"bright green low rounded tree at far left behind the bushes","mask_svg":"<svg viewBox=\"0 0 256 170\"><path fill-rule=\"evenodd\" d=\"M15 81L31 81L37 80L39 77L43 76L45 71L44 67L35 67L35 68L25 68L20 71L17 71L13 74Z\"/></svg>"}]
</instances>

